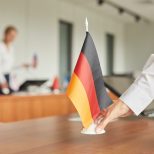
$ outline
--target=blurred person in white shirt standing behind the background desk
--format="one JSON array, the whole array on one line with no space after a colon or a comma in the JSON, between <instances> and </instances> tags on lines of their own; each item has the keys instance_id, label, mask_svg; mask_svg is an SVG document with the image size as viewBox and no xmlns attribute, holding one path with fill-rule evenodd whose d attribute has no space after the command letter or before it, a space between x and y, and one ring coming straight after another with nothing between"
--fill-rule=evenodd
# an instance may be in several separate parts
<instances>
[{"instance_id":1,"label":"blurred person in white shirt standing behind the background desk","mask_svg":"<svg viewBox=\"0 0 154 154\"><path fill-rule=\"evenodd\" d=\"M0 42L0 94L10 93L10 73L14 67L13 42L17 37L17 29L8 26L4 31L3 40ZM30 67L23 64L22 67Z\"/></svg>"}]
</instances>

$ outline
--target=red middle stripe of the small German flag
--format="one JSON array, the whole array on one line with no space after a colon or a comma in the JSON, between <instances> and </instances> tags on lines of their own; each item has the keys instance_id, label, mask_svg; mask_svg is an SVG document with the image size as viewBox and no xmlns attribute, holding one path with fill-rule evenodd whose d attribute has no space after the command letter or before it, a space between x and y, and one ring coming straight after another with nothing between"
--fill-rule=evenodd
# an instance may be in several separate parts
<instances>
[{"instance_id":1,"label":"red middle stripe of the small German flag","mask_svg":"<svg viewBox=\"0 0 154 154\"><path fill-rule=\"evenodd\" d=\"M92 71L86 56L81 52L74 73L81 80L88 96L91 114L95 120L100 113ZM80 91L79 91L80 93Z\"/></svg>"}]
</instances>

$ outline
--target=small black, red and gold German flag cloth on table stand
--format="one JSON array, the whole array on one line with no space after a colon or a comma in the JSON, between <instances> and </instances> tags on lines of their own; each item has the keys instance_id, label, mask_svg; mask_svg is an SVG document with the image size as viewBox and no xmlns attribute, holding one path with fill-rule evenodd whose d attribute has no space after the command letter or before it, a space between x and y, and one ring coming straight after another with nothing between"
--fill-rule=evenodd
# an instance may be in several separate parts
<instances>
[{"instance_id":1,"label":"small black, red and gold German flag cloth on table stand","mask_svg":"<svg viewBox=\"0 0 154 154\"><path fill-rule=\"evenodd\" d=\"M104 86L97 51L89 32L67 88L67 96L77 109L83 126L88 128L100 110L112 101Z\"/></svg>"}]
</instances>

